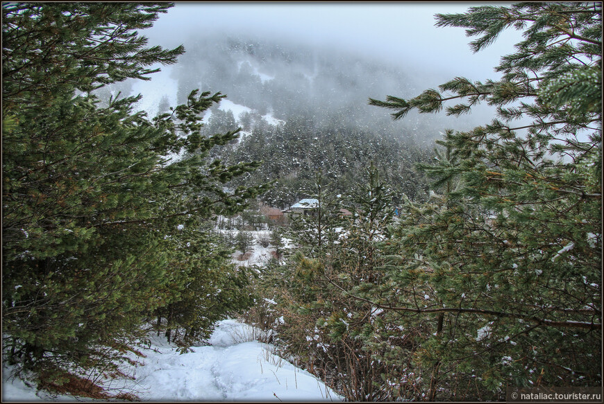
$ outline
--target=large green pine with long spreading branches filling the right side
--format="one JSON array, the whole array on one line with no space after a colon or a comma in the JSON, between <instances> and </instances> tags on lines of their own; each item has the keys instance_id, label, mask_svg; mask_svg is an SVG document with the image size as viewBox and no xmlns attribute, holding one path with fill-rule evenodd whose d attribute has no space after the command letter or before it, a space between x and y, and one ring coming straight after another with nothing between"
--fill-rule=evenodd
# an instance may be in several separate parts
<instances>
[{"instance_id":1,"label":"large green pine with long spreading branches filling the right side","mask_svg":"<svg viewBox=\"0 0 604 404\"><path fill-rule=\"evenodd\" d=\"M455 100L449 115L496 109L491 123L447 132L457 164L423 167L437 185L460 183L408 204L372 300L403 327L432 329L414 358L431 398L600 385L601 4L478 6L437 15L437 25L467 28L473 51L510 27L524 39L496 67L499 80L370 100L395 119Z\"/></svg>"}]
</instances>

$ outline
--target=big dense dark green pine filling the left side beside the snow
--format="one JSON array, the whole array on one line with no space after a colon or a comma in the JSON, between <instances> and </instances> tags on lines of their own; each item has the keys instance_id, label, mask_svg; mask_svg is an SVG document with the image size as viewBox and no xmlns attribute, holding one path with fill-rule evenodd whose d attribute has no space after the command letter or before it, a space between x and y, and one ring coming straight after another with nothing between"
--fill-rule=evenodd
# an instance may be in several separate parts
<instances>
[{"instance_id":1,"label":"big dense dark green pine filling the left side beside the snow","mask_svg":"<svg viewBox=\"0 0 604 404\"><path fill-rule=\"evenodd\" d=\"M227 193L224 183L258 164L206 157L237 137L200 133L203 111L224 96L194 90L150 120L132 111L140 96L101 107L92 94L176 62L182 46L146 47L137 34L170 6L2 6L3 355L46 386L65 382L66 371L114 366L158 308L191 302L207 312L187 315L224 314L193 302L194 288L240 281L232 271L204 272L208 260L225 261L206 256L210 245L196 232L266 188ZM203 334L208 322L186 324Z\"/></svg>"}]
</instances>

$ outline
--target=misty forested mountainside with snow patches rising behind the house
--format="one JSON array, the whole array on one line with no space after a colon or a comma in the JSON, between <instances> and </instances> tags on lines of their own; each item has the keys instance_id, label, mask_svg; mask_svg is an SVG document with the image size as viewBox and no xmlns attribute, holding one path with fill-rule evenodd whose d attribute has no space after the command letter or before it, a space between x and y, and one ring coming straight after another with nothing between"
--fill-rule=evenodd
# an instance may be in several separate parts
<instances>
[{"instance_id":1,"label":"misty forested mountainside with snow patches rising behind the house","mask_svg":"<svg viewBox=\"0 0 604 404\"><path fill-rule=\"evenodd\" d=\"M483 108L460 118L411 112L393 121L367 103L387 94L412 97L426 80L439 80L418 76L412 63L243 33L195 33L183 43L185 53L174 66L161 67L158 80L126 80L103 87L99 96L140 92L139 108L154 116L186 103L193 89L225 94L206 112L203 133L243 132L239 142L216 148L212 157L230 164L262 161L230 186L277 180L260 199L281 209L309 195L305 190L318 170L342 193L365 181L371 162L392 184L396 201L403 195L423 200L428 188L414 165L432 157L445 128L471 128L484 120Z\"/></svg>"}]
</instances>

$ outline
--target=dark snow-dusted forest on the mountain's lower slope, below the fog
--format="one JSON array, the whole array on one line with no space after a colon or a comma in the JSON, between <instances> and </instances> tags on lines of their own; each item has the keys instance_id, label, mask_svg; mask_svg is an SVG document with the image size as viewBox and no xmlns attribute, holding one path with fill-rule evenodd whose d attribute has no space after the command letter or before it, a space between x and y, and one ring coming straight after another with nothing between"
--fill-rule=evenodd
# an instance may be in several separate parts
<instances>
[{"instance_id":1,"label":"dark snow-dusted forest on the mountain's lower slope, below the fog","mask_svg":"<svg viewBox=\"0 0 604 404\"><path fill-rule=\"evenodd\" d=\"M215 116L210 117L208 133L215 130ZM337 118L328 124L317 123L312 116L296 116L278 126L258 125L240 143L216 148L215 153L227 162L262 161L258 170L238 177L233 185L274 180L260 200L280 209L308 195L304 190L312 186L319 171L330 180L335 193L349 193L355 184L364 182L371 162L382 168L396 190L396 203L403 195L421 199L428 186L414 164L431 157L428 149L392 134L348 128Z\"/></svg>"}]
</instances>

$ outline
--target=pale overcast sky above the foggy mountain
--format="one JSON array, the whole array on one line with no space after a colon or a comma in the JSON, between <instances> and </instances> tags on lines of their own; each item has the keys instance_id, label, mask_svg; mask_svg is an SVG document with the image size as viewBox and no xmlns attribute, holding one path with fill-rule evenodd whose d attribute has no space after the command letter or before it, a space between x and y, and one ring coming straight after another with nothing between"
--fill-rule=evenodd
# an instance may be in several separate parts
<instances>
[{"instance_id":1,"label":"pale overcast sky above the foggy mountain","mask_svg":"<svg viewBox=\"0 0 604 404\"><path fill-rule=\"evenodd\" d=\"M521 39L510 30L485 51L473 54L464 28L437 28L436 13L465 12L486 2L361 3L176 3L153 28L142 33L150 44L176 46L206 30L290 39L313 46L337 47L370 55L376 61L413 65L417 71L446 78L495 78L501 55ZM506 5L509 3L496 3ZM440 82L427 82L433 86Z\"/></svg>"}]
</instances>

